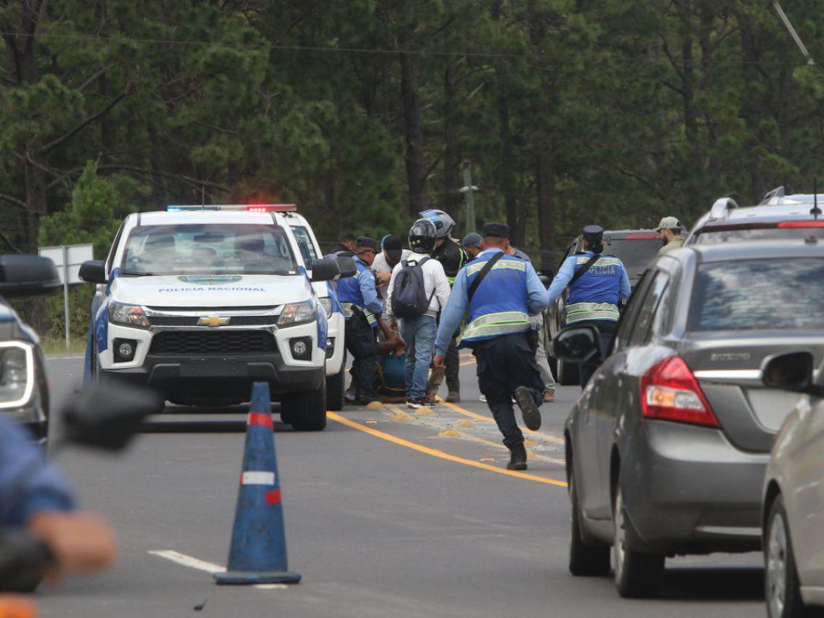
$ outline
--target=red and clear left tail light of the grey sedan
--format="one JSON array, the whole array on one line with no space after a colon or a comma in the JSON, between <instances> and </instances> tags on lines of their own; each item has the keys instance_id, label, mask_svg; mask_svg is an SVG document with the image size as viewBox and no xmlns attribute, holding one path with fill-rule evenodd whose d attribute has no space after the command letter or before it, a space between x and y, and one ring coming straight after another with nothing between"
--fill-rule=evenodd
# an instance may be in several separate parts
<instances>
[{"instance_id":1,"label":"red and clear left tail light of the grey sedan","mask_svg":"<svg viewBox=\"0 0 824 618\"><path fill-rule=\"evenodd\" d=\"M721 426L695 374L680 356L655 363L641 378L641 410L645 419Z\"/></svg>"}]
</instances>

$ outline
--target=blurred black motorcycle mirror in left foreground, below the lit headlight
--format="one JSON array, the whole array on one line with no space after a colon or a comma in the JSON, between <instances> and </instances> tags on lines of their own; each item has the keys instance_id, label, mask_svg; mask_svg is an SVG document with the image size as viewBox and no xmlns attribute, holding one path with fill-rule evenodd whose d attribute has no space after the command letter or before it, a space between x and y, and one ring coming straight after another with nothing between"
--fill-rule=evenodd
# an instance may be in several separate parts
<instances>
[{"instance_id":1,"label":"blurred black motorcycle mirror in left foreground, below the lit headlight","mask_svg":"<svg viewBox=\"0 0 824 618\"><path fill-rule=\"evenodd\" d=\"M63 408L60 442L122 450L138 433L148 414L163 410L165 401L157 392L126 382L91 382Z\"/></svg>"}]
</instances>

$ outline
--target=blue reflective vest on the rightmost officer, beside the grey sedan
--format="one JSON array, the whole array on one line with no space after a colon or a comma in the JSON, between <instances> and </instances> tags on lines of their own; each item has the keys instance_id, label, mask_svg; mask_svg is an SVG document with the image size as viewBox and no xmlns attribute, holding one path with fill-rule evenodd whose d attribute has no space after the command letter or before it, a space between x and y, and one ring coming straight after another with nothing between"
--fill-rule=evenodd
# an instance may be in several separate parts
<instances>
[{"instance_id":1,"label":"blue reflective vest on the rightmost officer, beside the grey sedan","mask_svg":"<svg viewBox=\"0 0 824 618\"><path fill-rule=\"evenodd\" d=\"M584 251L570 255L575 270L582 268L593 254ZM620 317L618 300L623 263L613 255L602 255L570 288L567 298L567 324L584 320L617 321Z\"/></svg>"}]
</instances>

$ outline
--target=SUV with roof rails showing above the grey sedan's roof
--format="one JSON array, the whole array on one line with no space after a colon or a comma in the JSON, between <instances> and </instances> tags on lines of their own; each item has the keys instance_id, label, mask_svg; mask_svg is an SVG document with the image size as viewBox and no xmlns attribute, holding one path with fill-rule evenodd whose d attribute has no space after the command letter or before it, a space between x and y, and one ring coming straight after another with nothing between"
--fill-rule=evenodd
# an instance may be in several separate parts
<instances>
[{"instance_id":1,"label":"SUV with roof rails showing above the grey sedan's roof","mask_svg":"<svg viewBox=\"0 0 824 618\"><path fill-rule=\"evenodd\" d=\"M718 245L723 242L800 240L815 236L824 240L824 195L784 194L784 187L770 191L757 206L739 207L732 198L715 201L709 213L695 224L685 245Z\"/></svg>"}]
</instances>

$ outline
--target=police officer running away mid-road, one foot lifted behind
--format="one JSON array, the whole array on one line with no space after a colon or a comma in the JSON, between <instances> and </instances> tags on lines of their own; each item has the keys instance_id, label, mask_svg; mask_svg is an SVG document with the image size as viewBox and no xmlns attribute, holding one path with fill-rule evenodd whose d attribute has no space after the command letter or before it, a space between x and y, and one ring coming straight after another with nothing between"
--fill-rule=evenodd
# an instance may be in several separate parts
<instances>
[{"instance_id":1,"label":"police officer running away mid-road, one foot lifted behind","mask_svg":"<svg viewBox=\"0 0 824 618\"><path fill-rule=\"evenodd\" d=\"M481 236L483 250L458 273L441 313L435 366L443 366L452 334L468 314L461 347L471 348L477 359L478 386L511 453L508 470L526 470L527 449L512 400L514 396L527 428L541 427L544 383L528 336L529 316L541 313L550 301L532 265L507 255L505 223L487 223Z\"/></svg>"}]
</instances>

